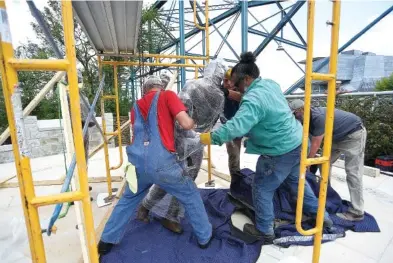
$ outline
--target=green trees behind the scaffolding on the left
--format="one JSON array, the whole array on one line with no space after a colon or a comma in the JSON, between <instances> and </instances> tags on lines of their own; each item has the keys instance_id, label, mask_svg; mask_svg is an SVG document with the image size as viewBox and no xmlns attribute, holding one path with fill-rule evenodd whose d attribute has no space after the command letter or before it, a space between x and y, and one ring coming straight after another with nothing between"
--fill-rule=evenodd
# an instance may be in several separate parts
<instances>
[{"instance_id":1,"label":"green trees behind the scaffolding on the left","mask_svg":"<svg viewBox=\"0 0 393 263\"><path fill-rule=\"evenodd\" d=\"M61 21L61 5L59 1L48 1L47 6L42 12L44 21L48 24L56 45L59 47L62 54L65 54L64 33ZM151 8L144 8L142 12L142 23L140 27L139 50L148 50L154 53L159 47L168 42L168 35L161 29L162 25L157 20L158 12ZM75 51L78 61L78 68L82 71L84 93L91 102L98 89L98 63L96 59L96 52L89 43L88 38L83 33L81 26L76 20L75 24ZM158 27L161 25L161 28ZM49 42L40 26L33 22L32 29L36 33L38 43L22 44L15 50L15 56L25 59L48 59L55 58L55 53L52 50ZM113 60L124 60L123 58L114 58ZM113 67L103 67L105 73L105 94L113 94ZM127 88L126 83L130 79L131 68L118 67L118 87L119 87L119 102L120 115L128 116L132 106L132 94ZM37 95L37 93L44 87L44 85L52 78L54 72L20 72L18 74L20 86L22 87L22 103L23 107ZM1 87L0 87L1 88ZM41 101L37 108L31 113L38 117L38 119L56 119L58 118L58 95L57 92L50 92L46 98ZM115 112L115 104L113 100L105 103L106 112ZM100 103L96 106L97 115L100 116ZM3 92L0 89L0 133L8 126L5 114Z\"/></svg>"}]
</instances>

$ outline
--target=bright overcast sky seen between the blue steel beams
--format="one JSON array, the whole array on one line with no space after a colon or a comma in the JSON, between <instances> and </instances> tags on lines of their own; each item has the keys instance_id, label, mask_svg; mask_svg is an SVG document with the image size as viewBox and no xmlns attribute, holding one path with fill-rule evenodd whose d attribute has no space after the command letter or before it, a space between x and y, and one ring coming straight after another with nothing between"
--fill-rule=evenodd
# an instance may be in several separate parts
<instances>
[{"instance_id":1,"label":"bright overcast sky seen between the blue steel beams","mask_svg":"<svg viewBox=\"0 0 393 263\"><path fill-rule=\"evenodd\" d=\"M152 2L147 1L147 2ZM210 4L218 4L222 1L210 0ZM284 6L292 4L293 1L284 3ZM37 7L42 9L46 1L36 0ZM14 47L20 43L26 42L27 39L35 40L34 33L30 27L30 22L33 21L28 6L25 1L21 0L6 0L7 10L9 14L9 20L11 24L11 34ZM168 5L168 4L167 4ZM341 12L341 28L340 28L340 46L348 41L354 34L359 32L368 23L375 19L378 15L384 12L387 8L393 5L393 1L353 1L343 0L342 1L342 12ZM169 6L169 5L168 5ZM186 1L185 6L188 7L189 3ZM317 0L316 4L316 20L315 20L315 43L314 43L314 56L326 56L329 54L330 46L330 27L326 25L326 21L331 19L331 6L332 3L328 0ZM258 7L250 9L251 12L260 20L269 16L273 12L277 12L278 8L275 5L269 5L265 7ZM293 22L301 32L303 37L306 39L306 16L307 16L306 4L302 9L294 16ZM210 18L218 15L222 11L212 12ZM192 20L191 15L186 15L187 20ZM279 17L273 18L263 23L263 25L271 31ZM230 20L232 21L232 20ZM249 16L249 25L254 24L255 21ZM220 24L218 24L220 25ZM220 32L226 33L229 28L230 22L226 23L220 28ZM389 14L385 17L377 26L367 32L358 41L355 42L349 49L360 49L363 51L371 51L379 55L393 55L393 14ZM262 30L260 27L256 29ZM211 29L213 30L213 28ZM240 41L240 19L235 24L235 28L228 38L228 42L231 43L233 48L240 52L241 41ZM297 36L289 25L284 29L284 37L293 41L299 42ZM189 49L196 41L200 40L200 37L190 41L186 45L186 50ZM218 34L211 36L211 54L215 53L215 50L221 42L221 38ZM254 36L249 34L249 50L253 51L263 40L263 37ZM300 61L305 59L306 52L297 48L293 48L287 45L283 45L289 54L296 60ZM277 45L275 42L271 42L270 45L260 54L258 57L258 65L261 70L261 75L264 78L271 78L277 81L283 90L287 89L293 84L303 73L291 62L291 60L282 51L277 51ZM192 52L200 52L201 47L195 48ZM220 55L222 57L233 58L230 49L224 45Z\"/></svg>"}]
</instances>

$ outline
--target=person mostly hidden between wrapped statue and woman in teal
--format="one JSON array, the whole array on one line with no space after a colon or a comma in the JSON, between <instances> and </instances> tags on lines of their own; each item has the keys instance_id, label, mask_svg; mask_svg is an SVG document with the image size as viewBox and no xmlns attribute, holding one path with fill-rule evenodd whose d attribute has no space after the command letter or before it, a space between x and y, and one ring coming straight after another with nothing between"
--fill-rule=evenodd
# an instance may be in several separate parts
<instances>
[{"instance_id":1,"label":"person mostly hidden between wrapped statue and woman in teal","mask_svg":"<svg viewBox=\"0 0 393 263\"><path fill-rule=\"evenodd\" d=\"M228 69L225 72L221 91L225 96L224 104L224 118L220 118L222 124L225 124L228 120L235 116L239 110L240 101L242 95L240 92L235 90L235 86L231 84L231 71ZM228 153L228 168L229 174L231 175L231 185L238 182L240 179L240 150L242 147L242 137L235 138L233 141L226 143Z\"/></svg>"}]
</instances>

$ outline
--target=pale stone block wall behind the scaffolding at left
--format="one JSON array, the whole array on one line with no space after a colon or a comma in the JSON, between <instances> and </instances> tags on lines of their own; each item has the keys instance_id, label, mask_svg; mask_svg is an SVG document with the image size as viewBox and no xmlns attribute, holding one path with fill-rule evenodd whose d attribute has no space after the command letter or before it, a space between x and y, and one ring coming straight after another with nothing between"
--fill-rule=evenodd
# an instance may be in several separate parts
<instances>
[{"instance_id":1,"label":"pale stone block wall behind the scaffolding at left","mask_svg":"<svg viewBox=\"0 0 393 263\"><path fill-rule=\"evenodd\" d=\"M101 126L101 117L97 117L97 122ZM105 114L107 131L113 131L113 115ZM66 152L64 134L58 119L37 120L36 116L25 118L26 139L30 147L31 157L37 158L48 155L55 155ZM102 136L96 127L89 128L90 150L94 149L103 142ZM111 140L109 147L114 147ZM0 163L14 161L12 145L0 146Z\"/></svg>"}]
</instances>

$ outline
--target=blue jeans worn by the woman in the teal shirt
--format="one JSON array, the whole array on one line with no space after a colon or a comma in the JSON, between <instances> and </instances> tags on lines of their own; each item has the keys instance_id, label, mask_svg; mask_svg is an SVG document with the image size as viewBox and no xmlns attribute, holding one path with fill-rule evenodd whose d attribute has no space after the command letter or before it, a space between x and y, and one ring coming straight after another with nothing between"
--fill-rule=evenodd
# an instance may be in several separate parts
<instances>
[{"instance_id":1,"label":"blue jeans worn by the woman in the teal shirt","mask_svg":"<svg viewBox=\"0 0 393 263\"><path fill-rule=\"evenodd\" d=\"M300 171L301 146L279 156L260 156L253 182L253 202L256 225L264 234L274 233L273 196L281 184L286 184L293 196L297 196ZM316 214L318 199L306 182L304 188L304 212ZM325 212L325 218L329 214Z\"/></svg>"}]
</instances>

